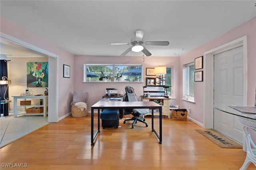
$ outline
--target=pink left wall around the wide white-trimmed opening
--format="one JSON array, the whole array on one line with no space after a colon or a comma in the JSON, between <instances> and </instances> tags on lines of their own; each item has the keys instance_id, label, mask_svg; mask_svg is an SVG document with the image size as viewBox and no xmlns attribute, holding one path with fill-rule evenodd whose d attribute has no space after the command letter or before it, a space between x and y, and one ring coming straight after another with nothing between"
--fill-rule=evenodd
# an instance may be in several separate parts
<instances>
[{"instance_id":1,"label":"pink left wall around the wide white-trimmed opening","mask_svg":"<svg viewBox=\"0 0 256 170\"><path fill-rule=\"evenodd\" d=\"M72 101L72 94L74 91L74 55L68 53L67 51L55 46L54 44L47 42L46 40L36 36L35 34L25 30L24 28L6 20L1 17L0 30L2 33L22 40L24 42L30 43L36 47L59 55L59 105L58 105L58 115L62 117L67 113L70 113ZM63 64L70 65L70 78L63 78ZM50 92L49 92L50 93Z\"/></svg>"}]
</instances>

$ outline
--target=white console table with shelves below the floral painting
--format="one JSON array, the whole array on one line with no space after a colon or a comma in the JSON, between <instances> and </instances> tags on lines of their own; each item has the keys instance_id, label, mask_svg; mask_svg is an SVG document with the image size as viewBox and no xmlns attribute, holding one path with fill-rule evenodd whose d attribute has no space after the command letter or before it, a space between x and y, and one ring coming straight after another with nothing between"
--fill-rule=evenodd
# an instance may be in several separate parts
<instances>
[{"instance_id":1,"label":"white console table with shelves below the floral painting","mask_svg":"<svg viewBox=\"0 0 256 170\"><path fill-rule=\"evenodd\" d=\"M12 96L13 97L13 117L17 117L17 115L47 115L47 106L48 106L48 96ZM43 99L43 105L18 105L17 99ZM18 113L18 107L24 107L24 112ZM26 113L26 107L44 107L43 113Z\"/></svg>"}]
</instances>

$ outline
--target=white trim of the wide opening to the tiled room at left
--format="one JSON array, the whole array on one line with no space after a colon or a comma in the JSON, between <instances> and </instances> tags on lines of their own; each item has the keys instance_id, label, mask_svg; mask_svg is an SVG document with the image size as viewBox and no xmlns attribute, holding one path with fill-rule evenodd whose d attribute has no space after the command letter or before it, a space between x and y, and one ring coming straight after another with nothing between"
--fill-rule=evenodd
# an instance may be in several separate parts
<instances>
[{"instance_id":1,"label":"white trim of the wide opening to the tiled room at left","mask_svg":"<svg viewBox=\"0 0 256 170\"><path fill-rule=\"evenodd\" d=\"M7 45L11 45L13 47L17 47L26 51L30 51L32 53L41 55L43 57L48 57L49 63L49 82L48 89L51 93L48 94L48 122L58 122L58 63L59 63L59 55L36 47L30 43L26 43L22 40L9 36L0 32L0 40L1 43L5 43Z\"/></svg>"}]
</instances>

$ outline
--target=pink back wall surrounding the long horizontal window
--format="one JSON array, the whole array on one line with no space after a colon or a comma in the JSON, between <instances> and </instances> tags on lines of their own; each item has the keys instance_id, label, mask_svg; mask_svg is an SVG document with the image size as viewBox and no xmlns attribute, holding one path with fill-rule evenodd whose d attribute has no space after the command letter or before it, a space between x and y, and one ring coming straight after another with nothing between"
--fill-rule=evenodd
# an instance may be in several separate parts
<instances>
[{"instance_id":1,"label":"pink back wall surrounding the long horizontal window","mask_svg":"<svg viewBox=\"0 0 256 170\"><path fill-rule=\"evenodd\" d=\"M125 87L131 85L136 91L136 95L142 95L143 89L142 86L146 83L118 83L118 82L99 82L99 83L82 83L83 81L83 68L84 64L142 64L143 65L143 81L146 80L146 68L156 67L158 65L174 66L174 86L176 97L179 99L179 79L180 79L180 57L145 57L143 62L143 57L106 57L106 56L85 56L85 55L75 55L74 68L75 78L74 78L74 89L79 91L88 91L88 109L90 111L90 106L96 103L102 98L105 93L106 88L116 88L125 92ZM178 99L171 99L170 104L178 104Z\"/></svg>"}]
</instances>

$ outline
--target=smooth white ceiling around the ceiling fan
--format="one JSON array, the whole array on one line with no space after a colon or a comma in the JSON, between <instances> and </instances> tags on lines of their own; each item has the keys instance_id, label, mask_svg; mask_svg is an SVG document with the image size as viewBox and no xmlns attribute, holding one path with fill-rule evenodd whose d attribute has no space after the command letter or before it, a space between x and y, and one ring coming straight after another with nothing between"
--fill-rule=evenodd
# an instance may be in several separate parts
<instances>
[{"instance_id":1,"label":"smooth white ceiling around the ceiling fan","mask_svg":"<svg viewBox=\"0 0 256 170\"><path fill-rule=\"evenodd\" d=\"M255 0L1 0L2 17L75 55L119 56L135 30L152 56L180 56L256 16ZM1 54L11 54L1 44ZM142 55L128 53L127 55Z\"/></svg>"}]
</instances>

